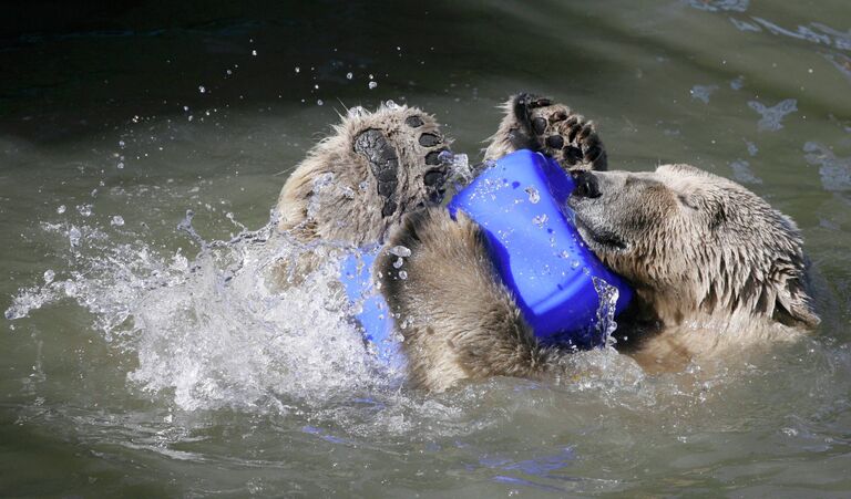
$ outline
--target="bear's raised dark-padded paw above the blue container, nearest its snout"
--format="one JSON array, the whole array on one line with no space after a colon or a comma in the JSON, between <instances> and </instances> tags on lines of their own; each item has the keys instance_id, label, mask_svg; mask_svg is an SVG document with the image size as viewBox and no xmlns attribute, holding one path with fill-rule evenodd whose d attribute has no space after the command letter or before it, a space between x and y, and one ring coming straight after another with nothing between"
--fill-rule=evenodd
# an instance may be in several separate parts
<instances>
[{"instance_id":1,"label":"bear's raised dark-padded paw above the blue container, nearest its snout","mask_svg":"<svg viewBox=\"0 0 851 499\"><path fill-rule=\"evenodd\" d=\"M607 168L606 150L594 124L546 97L521 93L504 105L505 116L490 137L485 160L517 149L553 157L565 170Z\"/></svg>"}]
</instances>

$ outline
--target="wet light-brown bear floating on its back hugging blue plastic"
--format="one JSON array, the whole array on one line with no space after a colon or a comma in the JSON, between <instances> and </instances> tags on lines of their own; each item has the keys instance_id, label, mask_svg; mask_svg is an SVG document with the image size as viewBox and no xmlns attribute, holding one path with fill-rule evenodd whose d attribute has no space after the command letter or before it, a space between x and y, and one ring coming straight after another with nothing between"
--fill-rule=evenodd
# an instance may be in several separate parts
<instances>
[{"instance_id":1,"label":"wet light-brown bear floating on its back hugging blue plastic","mask_svg":"<svg viewBox=\"0 0 851 499\"><path fill-rule=\"evenodd\" d=\"M573 378L574 351L536 340L491 263L482 229L440 206L451 175L440 153L449 144L414 107L345 118L285 185L280 228L410 250L401 267L398 254L382 251L373 273L403 336L412 386ZM618 316L617 347L647 371L818 325L799 230L742 186L688 165L607 171L593 123L525 93L505 104L484 158L520 148L550 155L574 177L568 205L580 235L635 290ZM328 175L340 183L326 194ZM311 209L316 196L324 200Z\"/></svg>"}]
</instances>

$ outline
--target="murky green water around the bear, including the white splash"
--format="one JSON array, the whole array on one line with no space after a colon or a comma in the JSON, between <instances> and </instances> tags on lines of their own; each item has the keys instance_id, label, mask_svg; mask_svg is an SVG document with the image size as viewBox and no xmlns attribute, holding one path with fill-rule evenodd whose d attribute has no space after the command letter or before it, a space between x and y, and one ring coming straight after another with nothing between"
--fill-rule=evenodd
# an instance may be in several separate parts
<instances>
[{"instance_id":1,"label":"murky green water around the bear, including the white splash","mask_svg":"<svg viewBox=\"0 0 851 499\"><path fill-rule=\"evenodd\" d=\"M196 7L34 4L0 33L3 495L849 495L844 1ZM338 113L419 105L476 164L517 90L592 117L612 168L693 163L792 216L820 330L426 395L365 353L330 267L263 278L339 250L263 242Z\"/></svg>"}]
</instances>

